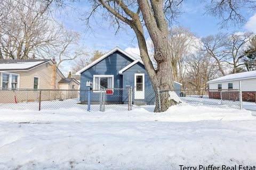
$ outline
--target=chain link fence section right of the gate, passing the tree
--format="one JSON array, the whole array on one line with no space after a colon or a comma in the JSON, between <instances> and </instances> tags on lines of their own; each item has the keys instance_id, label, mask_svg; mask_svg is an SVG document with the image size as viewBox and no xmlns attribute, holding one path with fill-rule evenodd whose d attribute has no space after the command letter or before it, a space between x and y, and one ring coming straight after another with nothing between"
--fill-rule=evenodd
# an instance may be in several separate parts
<instances>
[{"instance_id":1,"label":"chain link fence section right of the gate, passing the tree","mask_svg":"<svg viewBox=\"0 0 256 170\"><path fill-rule=\"evenodd\" d=\"M174 99L179 105L191 106L207 106L220 108L242 108L241 92L238 89L232 90L175 90L163 91L158 90L155 98L154 90L146 90L145 94L133 91L133 104L141 105L156 105L161 108L161 102L156 102L166 92L170 99Z\"/></svg>"}]
</instances>

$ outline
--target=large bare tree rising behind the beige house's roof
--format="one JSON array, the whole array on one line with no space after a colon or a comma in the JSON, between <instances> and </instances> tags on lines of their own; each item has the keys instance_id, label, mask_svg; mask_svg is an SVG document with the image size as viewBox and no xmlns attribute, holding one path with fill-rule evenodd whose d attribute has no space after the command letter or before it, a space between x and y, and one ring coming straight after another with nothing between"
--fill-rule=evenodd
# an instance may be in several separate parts
<instances>
[{"instance_id":1,"label":"large bare tree rising behind the beige house's roof","mask_svg":"<svg viewBox=\"0 0 256 170\"><path fill-rule=\"evenodd\" d=\"M28 59L58 39L58 25L47 15L51 2L4 0L0 4L7 12L0 18L1 58Z\"/></svg>"}]
</instances>

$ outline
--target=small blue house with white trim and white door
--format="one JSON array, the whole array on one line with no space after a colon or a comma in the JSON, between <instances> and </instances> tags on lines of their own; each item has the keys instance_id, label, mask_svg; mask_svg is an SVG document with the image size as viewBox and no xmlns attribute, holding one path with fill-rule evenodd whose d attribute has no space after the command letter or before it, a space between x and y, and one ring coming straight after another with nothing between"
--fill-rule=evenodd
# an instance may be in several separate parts
<instances>
[{"instance_id":1,"label":"small blue house with white trim and white door","mask_svg":"<svg viewBox=\"0 0 256 170\"><path fill-rule=\"evenodd\" d=\"M123 104L128 101L128 90L133 89L133 101L147 104L155 103L155 94L143 62L124 50L116 47L91 64L79 70L81 74L80 101L87 103L86 82L93 83L91 102L98 103L100 89L114 89L112 95L106 95L106 103ZM182 84L175 82L177 95Z\"/></svg>"}]
</instances>

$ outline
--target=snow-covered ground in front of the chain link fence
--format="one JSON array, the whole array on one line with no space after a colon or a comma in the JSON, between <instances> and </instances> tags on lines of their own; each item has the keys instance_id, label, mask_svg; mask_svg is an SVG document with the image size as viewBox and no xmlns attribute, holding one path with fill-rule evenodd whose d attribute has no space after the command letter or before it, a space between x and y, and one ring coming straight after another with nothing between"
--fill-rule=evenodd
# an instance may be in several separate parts
<instances>
[{"instance_id":1,"label":"snow-covered ground in front of the chain link fence","mask_svg":"<svg viewBox=\"0 0 256 170\"><path fill-rule=\"evenodd\" d=\"M255 165L252 111L189 105L165 113L153 109L0 109L0 169Z\"/></svg>"}]
</instances>

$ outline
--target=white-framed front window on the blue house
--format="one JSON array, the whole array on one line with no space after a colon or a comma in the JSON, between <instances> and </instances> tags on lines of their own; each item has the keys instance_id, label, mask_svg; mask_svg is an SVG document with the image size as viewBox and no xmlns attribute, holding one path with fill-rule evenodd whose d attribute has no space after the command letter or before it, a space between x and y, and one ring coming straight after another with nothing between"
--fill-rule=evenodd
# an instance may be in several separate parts
<instances>
[{"instance_id":1,"label":"white-framed front window on the blue house","mask_svg":"<svg viewBox=\"0 0 256 170\"><path fill-rule=\"evenodd\" d=\"M93 90L114 88L114 75L93 75Z\"/></svg>"}]
</instances>

